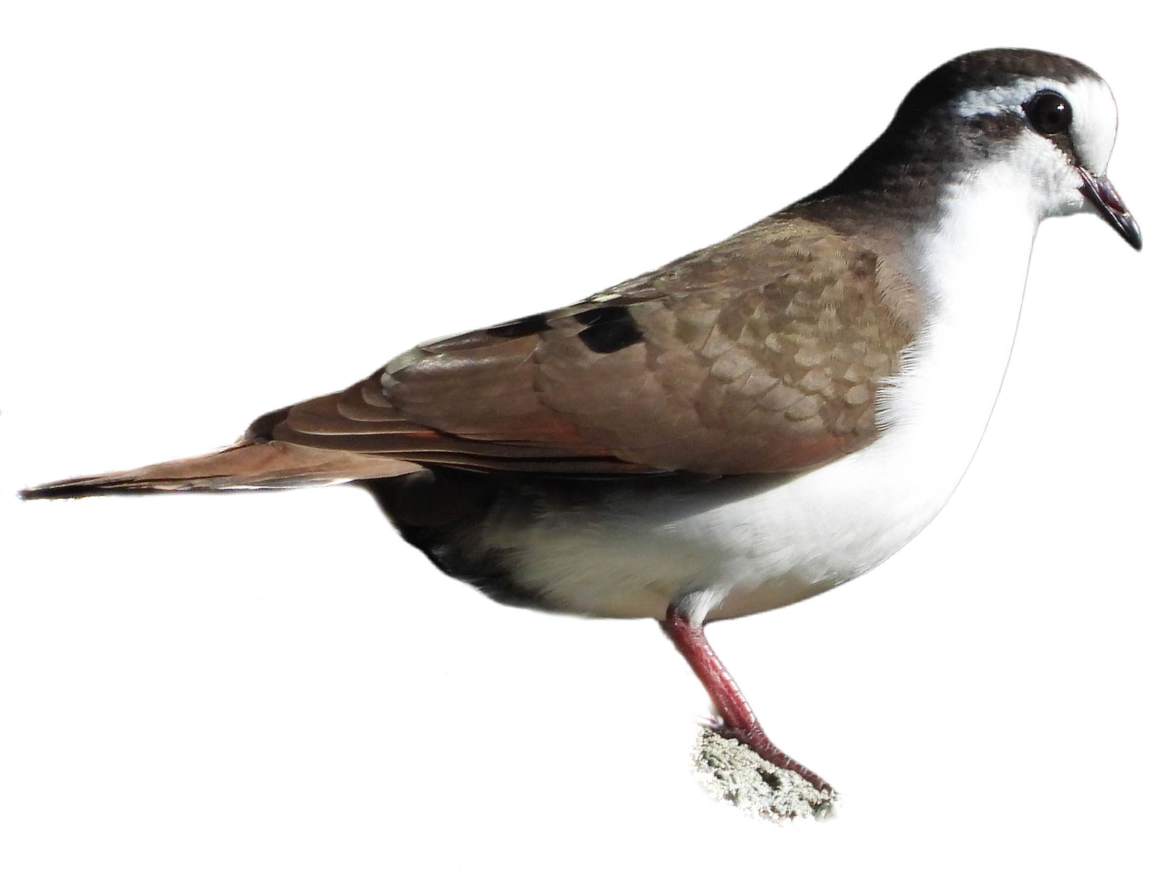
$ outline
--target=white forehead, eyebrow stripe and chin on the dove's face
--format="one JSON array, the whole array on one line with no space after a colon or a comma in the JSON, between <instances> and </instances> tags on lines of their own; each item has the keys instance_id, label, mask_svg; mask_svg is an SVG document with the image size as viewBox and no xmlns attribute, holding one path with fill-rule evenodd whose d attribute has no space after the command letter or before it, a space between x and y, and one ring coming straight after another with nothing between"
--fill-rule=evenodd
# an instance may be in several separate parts
<instances>
[{"instance_id":1,"label":"white forehead, eyebrow stripe and chin on the dove's face","mask_svg":"<svg viewBox=\"0 0 1163 872\"><path fill-rule=\"evenodd\" d=\"M1055 79L1023 79L1008 87L972 92L957 103L956 110L963 117L1004 113L1023 117L1023 103L1040 91L1057 92L1066 100L1072 110L1069 136L1078 163L1096 177L1105 176L1119 113L1111 88L1101 79L1080 79L1069 85ZM1070 156L1032 126L1027 124L1019 135L1007 160L1016 178L1028 179L1042 217L1091 208L1079 191L1082 178Z\"/></svg>"}]
</instances>

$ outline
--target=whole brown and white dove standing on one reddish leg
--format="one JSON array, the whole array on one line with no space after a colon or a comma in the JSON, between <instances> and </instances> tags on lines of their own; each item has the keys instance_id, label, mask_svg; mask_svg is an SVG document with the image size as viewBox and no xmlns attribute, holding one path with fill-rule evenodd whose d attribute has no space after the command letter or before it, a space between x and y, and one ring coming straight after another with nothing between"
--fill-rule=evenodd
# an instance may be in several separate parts
<instances>
[{"instance_id":1,"label":"whole brown and white dove standing on one reddish leg","mask_svg":"<svg viewBox=\"0 0 1163 872\"><path fill-rule=\"evenodd\" d=\"M855 579L941 510L1001 387L1040 222L1090 212L1142 248L1106 176L1116 123L1077 60L962 55L833 181L721 242L421 343L220 451L21 496L359 485L502 603L658 621L715 731L830 801L705 627Z\"/></svg>"}]
</instances>

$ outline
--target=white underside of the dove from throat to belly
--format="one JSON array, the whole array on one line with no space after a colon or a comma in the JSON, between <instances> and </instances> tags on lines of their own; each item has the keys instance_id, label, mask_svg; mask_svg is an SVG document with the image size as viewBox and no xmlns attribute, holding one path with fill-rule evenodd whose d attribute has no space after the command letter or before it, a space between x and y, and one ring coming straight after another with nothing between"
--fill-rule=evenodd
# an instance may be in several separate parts
<instances>
[{"instance_id":1,"label":"white underside of the dove from throat to belly","mask_svg":"<svg viewBox=\"0 0 1163 872\"><path fill-rule=\"evenodd\" d=\"M1018 326L1037 214L1004 169L950 190L943 219L914 237L927 328L882 388L875 443L770 487L704 485L737 491L711 507L627 495L511 529L519 580L591 614L661 617L697 593L699 610L727 617L855 578L920 533L972 459Z\"/></svg>"}]
</instances>

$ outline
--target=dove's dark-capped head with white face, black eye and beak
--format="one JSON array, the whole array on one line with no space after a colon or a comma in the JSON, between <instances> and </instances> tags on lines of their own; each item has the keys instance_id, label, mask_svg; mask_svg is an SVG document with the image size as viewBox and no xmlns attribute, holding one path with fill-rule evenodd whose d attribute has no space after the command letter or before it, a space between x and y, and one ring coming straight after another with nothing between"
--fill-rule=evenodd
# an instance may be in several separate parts
<instances>
[{"instance_id":1,"label":"dove's dark-capped head with white face, black eye and beak","mask_svg":"<svg viewBox=\"0 0 1163 872\"><path fill-rule=\"evenodd\" d=\"M1118 109L1089 66L1027 49L954 58L919 81L884 134L832 190L923 199L950 177L1028 190L1037 219L1096 210L1135 249L1142 236L1106 177Z\"/></svg>"}]
</instances>

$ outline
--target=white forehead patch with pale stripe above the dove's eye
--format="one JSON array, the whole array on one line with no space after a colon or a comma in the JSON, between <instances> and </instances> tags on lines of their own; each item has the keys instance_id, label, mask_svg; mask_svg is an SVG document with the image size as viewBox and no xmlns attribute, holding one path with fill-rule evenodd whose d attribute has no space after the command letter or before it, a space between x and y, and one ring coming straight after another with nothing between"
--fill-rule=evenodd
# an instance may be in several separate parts
<instances>
[{"instance_id":1,"label":"white forehead patch with pale stripe above the dove's eye","mask_svg":"<svg viewBox=\"0 0 1163 872\"><path fill-rule=\"evenodd\" d=\"M1106 173L1106 164L1114 149L1119 128L1119 110L1107 84L1099 78L1082 78L1069 85L1057 79L1021 79L1004 87L970 91L957 101L956 112L962 117L1000 115L1004 112L1022 114L1022 105L1039 91L1057 91L1073 109L1070 137L1075 153L1091 172Z\"/></svg>"}]
</instances>

